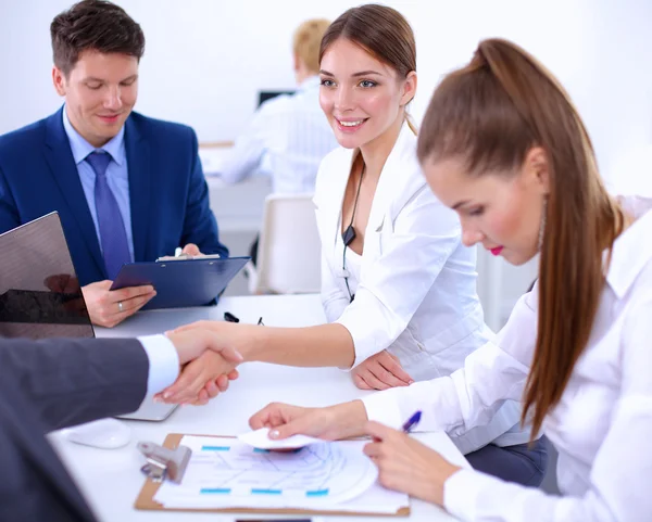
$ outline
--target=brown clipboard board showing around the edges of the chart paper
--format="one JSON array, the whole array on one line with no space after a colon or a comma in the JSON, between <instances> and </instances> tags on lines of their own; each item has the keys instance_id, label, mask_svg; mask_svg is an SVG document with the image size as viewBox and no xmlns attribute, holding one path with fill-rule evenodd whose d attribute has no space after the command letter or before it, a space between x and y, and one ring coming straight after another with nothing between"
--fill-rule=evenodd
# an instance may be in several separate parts
<instances>
[{"instance_id":1,"label":"brown clipboard board showing around the edges of the chart paper","mask_svg":"<svg viewBox=\"0 0 652 522\"><path fill-rule=\"evenodd\" d=\"M224 438L236 438L229 435L200 435L200 436L215 436ZM176 449L184 437L183 433L170 433L165 437L163 447L170 449ZM318 509L294 509L294 508L165 508L154 500L154 496L161 486L161 482L154 482L152 479L147 479L142 489L134 502L134 507L140 510L153 510L153 511L188 511L188 512L211 512L211 513L266 513L266 514L322 514L331 517L409 517L410 506L400 508L396 513L378 513L378 512L361 512L361 511L330 511L330 510L318 510Z\"/></svg>"}]
</instances>

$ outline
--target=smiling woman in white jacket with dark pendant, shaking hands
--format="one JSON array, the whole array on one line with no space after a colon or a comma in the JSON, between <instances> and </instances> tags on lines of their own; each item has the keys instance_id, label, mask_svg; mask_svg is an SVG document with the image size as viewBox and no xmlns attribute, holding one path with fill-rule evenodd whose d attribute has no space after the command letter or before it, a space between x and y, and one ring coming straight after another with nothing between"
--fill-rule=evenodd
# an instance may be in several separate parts
<instances>
[{"instance_id":1,"label":"smiling woman in white jacket with dark pendant, shaking hands","mask_svg":"<svg viewBox=\"0 0 652 522\"><path fill-rule=\"evenodd\" d=\"M462 244L457 216L429 190L416 156L412 28L391 8L350 9L326 29L319 69L321 105L341 145L322 162L314 196L329 323L213 328L246 360L338 366L364 390L449 375L493 333L476 293L475 249ZM171 400L192 400L193 390L175 392L211 371L193 365ZM476 469L539 484L546 446L527 447L521 411L506 400L482 425L451 435Z\"/></svg>"}]
</instances>

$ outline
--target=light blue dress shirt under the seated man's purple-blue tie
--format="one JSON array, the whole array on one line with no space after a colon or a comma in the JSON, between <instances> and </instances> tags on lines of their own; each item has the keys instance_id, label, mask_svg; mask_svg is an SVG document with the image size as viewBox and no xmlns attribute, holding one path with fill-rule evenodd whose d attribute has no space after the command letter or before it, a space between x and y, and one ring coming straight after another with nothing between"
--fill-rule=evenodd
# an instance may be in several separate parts
<instances>
[{"instance_id":1,"label":"light blue dress shirt under the seated man's purple-blue tie","mask_svg":"<svg viewBox=\"0 0 652 522\"><path fill-rule=\"evenodd\" d=\"M106 167L106 182L117 201L117 206L122 214L123 222L125 224L125 232L127 233L127 243L129 245L129 257L133 262L134 234L131 232L131 209L129 206L129 171L127 168L127 152L125 149L125 127L123 126L122 129L120 129L120 132L100 149L96 149L75 130L67 117L67 107L64 106L63 128L65 129L65 133L71 143L71 150L73 151L73 157L77 165L77 173L79 173L84 195L86 195L86 202L88 203L92 222L95 224L100 251L102 250L102 242L100 241L100 227L95 204L96 174L85 160L86 156L93 151L101 150L111 154L113 161L109 164L109 167Z\"/></svg>"}]
</instances>

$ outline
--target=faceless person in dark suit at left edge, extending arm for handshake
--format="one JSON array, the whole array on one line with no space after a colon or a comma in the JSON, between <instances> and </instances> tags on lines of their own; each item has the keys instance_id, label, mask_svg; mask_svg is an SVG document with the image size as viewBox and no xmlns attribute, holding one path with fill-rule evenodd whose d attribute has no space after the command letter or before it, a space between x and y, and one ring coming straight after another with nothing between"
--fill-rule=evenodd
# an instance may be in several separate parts
<instances>
[{"instance_id":1,"label":"faceless person in dark suit at left edge, extending arm for handshake","mask_svg":"<svg viewBox=\"0 0 652 522\"><path fill-rule=\"evenodd\" d=\"M0 340L0 520L95 521L43 435L135 411L146 393L175 381L179 365L216 347L208 329L138 340ZM241 361L233 349L221 356L231 368Z\"/></svg>"}]
</instances>

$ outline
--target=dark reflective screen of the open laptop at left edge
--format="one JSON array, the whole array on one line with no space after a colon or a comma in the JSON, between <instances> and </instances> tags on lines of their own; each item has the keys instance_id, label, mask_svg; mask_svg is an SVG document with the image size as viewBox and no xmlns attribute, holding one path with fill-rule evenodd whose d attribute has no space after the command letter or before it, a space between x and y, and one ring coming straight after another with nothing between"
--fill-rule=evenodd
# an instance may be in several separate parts
<instances>
[{"instance_id":1,"label":"dark reflective screen of the open laptop at left edge","mask_svg":"<svg viewBox=\"0 0 652 522\"><path fill-rule=\"evenodd\" d=\"M0 234L0 335L93 336L55 212Z\"/></svg>"}]
</instances>

